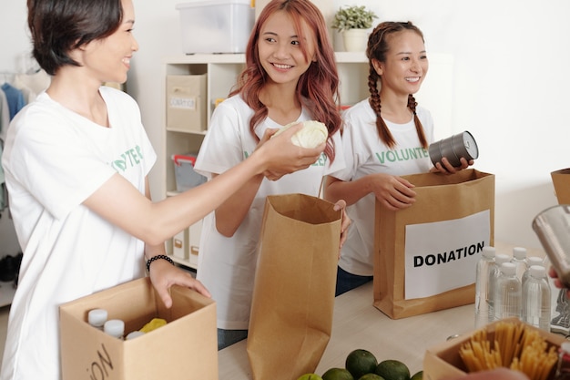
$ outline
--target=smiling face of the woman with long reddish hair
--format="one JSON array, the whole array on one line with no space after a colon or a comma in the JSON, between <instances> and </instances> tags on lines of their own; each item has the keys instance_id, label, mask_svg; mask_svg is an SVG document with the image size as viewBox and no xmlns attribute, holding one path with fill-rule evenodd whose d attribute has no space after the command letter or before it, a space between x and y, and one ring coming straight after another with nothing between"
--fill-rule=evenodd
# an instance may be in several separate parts
<instances>
[{"instance_id":1,"label":"smiling face of the woman with long reddish hair","mask_svg":"<svg viewBox=\"0 0 570 380\"><path fill-rule=\"evenodd\" d=\"M310 67L315 56L316 37L304 21L301 21L301 33L302 36L295 30L290 15L284 11L270 15L261 27L258 41L260 63L272 82L296 85ZM307 57L301 46L305 48Z\"/></svg>"}]
</instances>

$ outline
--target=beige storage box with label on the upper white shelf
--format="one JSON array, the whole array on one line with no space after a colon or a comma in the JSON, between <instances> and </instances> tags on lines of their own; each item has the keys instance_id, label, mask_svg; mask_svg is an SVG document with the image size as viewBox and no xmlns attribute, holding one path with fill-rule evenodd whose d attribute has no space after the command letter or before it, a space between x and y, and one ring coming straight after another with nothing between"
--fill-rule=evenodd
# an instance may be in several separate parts
<instances>
[{"instance_id":1,"label":"beige storage box with label on the upper white shelf","mask_svg":"<svg viewBox=\"0 0 570 380\"><path fill-rule=\"evenodd\" d=\"M201 132L208 127L207 74L167 76L167 128Z\"/></svg>"}]
</instances>

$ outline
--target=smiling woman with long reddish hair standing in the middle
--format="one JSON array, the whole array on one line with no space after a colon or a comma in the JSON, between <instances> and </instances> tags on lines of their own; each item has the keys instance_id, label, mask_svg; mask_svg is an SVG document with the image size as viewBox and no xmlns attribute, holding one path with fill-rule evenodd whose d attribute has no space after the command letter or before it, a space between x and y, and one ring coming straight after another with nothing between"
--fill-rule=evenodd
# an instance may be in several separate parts
<instances>
[{"instance_id":1,"label":"smiling woman with long reddish hair standing in the middle","mask_svg":"<svg viewBox=\"0 0 570 380\"><path fill-rule=\"evenodd\" d=\"M338 86L321 11L309 0L273 0L265 5L249 37L246 67L229 98L214 110L196 169L216 178L291 122L321 121L329 137L321 159L310 168L276 181L270 181L274 175L270 172L254 177L204 220L198 279L217 303L219 349L248 334L266 196L318 196L323 176L344 167L344 157L335 155L341 146ZM337 207L343 205L341 201Z\"/></svg>"}]
</instances>

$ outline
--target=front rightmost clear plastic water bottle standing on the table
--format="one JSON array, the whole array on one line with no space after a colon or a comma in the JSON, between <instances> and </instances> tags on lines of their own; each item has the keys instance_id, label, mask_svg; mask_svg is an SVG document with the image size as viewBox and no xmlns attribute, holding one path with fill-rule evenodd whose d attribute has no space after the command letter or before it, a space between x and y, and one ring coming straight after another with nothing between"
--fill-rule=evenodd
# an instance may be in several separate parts
<instances>
[{"instance_id":1,"label":"front rightmost clear plastic water bottle standing on the table","mask_svg":"<svg viewBox=\"0 0 570 380\"><path fill-rule=\"evenodd\" d=\"M550 285L546 280L546 269L542 265L533 265L523 286L521 319L527 324L550 332L550 302Z\"/></svg>"}]
</instances>

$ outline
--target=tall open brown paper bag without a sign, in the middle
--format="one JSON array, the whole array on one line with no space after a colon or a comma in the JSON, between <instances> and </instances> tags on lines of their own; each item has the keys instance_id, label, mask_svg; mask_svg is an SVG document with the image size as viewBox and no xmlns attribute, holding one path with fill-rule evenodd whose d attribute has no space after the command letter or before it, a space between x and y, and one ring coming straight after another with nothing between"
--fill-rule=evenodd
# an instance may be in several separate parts
<instances>
[{"instance_id":1,"label":"tall open brown paper bag without a sign, in the middle","mask_svg":"<svg viewBox=\"0 0 570 380\"><path fill-rule=\"evenodd\" d=\"M341 211L303 194L268 196L249 317L255 380L313 372L332 328Z\"/></svg>"}]
</instances>

